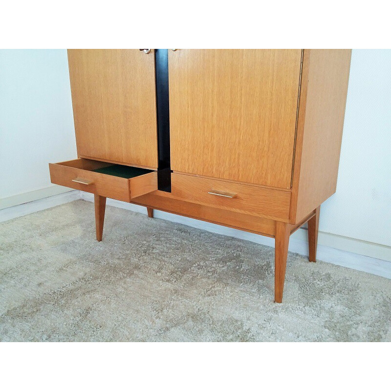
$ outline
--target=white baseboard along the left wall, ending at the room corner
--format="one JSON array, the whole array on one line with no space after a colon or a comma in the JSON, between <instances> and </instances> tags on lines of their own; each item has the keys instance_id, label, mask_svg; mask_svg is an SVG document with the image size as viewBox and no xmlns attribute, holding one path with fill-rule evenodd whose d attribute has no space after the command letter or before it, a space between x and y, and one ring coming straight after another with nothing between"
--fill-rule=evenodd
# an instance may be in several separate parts
<instances>
[{"instance_id":1,"label":"white baseboard along the left wall, ending at the room corner","mask_svg":"<svg viewBox=\"0 0 391 391\"><path fill-rule=\"evenodd\" d=\"M64 188L66 189L66 188ZM0 222L11 220L12 218L29 215L30 213L42 211L43 209L52 208L65 204L67 202L80 199L79 190L71 190L66 193L52 195L32 202L27 202L22 205L11 206L10 208L0 210Z\"/></svg>"}]
</instances>

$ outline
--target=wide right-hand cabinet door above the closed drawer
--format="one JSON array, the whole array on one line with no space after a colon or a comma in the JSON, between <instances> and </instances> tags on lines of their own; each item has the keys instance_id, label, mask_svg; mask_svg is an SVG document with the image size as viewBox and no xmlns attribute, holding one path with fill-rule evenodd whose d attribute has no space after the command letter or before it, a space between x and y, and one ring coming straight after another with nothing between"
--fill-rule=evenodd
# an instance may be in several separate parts
<instances>
[{"instance_id":1,"label":"wide right-hand cabinet door above the closed drawer","mask_svg":"<svg viewBox=\"0 0 391 391\"><path fill-rule=\"evenodd\" d=\"M290 188L301 50L169 50L171 168Z\"/></svg>"}]
</instances>

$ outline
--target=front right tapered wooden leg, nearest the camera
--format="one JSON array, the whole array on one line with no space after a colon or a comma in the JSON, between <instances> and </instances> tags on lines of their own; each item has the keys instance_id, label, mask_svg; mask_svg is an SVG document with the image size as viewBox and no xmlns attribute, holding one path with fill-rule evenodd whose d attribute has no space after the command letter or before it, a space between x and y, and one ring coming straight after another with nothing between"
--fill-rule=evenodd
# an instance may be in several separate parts
<instances>
[{"instance_id":1,"label":"front right tapered wooden leg, nearest the camera","mask_svg":"<svg viewBox=\"0 0 391 391\"><path fill-rule=\"evenodd\" d=\"M282 303L284 290L286 259L288 258L288 244L290 224L276 221L276 251L274 272L274 301Z\"/></svg>"}]
</instances>

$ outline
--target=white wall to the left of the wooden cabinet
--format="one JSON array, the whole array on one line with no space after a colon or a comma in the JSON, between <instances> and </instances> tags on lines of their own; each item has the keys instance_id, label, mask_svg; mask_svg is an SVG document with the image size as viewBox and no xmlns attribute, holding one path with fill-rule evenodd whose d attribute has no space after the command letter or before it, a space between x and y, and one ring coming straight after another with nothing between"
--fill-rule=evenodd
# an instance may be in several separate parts
<instances>
[{"instance_id":1,"label":"white wall to the left of the wooden cabinet","mask_svg":"<svg viewBox=\"0 0 391 391\"><path fill-rule=\"evenodd\" d=\"M76 157L66 50L0 50L2 206L66 190L48 162Z\"/></svg>"}]
</instances>

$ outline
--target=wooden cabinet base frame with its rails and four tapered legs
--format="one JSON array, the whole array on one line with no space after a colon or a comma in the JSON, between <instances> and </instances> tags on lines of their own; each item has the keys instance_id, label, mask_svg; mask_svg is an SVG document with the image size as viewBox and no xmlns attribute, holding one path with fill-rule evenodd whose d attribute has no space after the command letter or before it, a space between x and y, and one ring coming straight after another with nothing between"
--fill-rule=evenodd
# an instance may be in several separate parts
<instances>
[{"instance_id":1,"label":"wooden cabinet base frame with its rails and four tapered legs","mask_svg":"<svg viewBox=\"0 0 391 391\"><path fill-rule=\"evenodd\" d=\"M161 195L163 193L164 195ZM105 219L106 197L94 194L96 239L102 240L103 223ZM155 191L137 197L137 205L147 207L149 217L153 217L153 209L176 215L196 218L218 225L239 229L258 235L275 239L275 277L274 277L274 301L282 303L282 295L285 281L286 260L290 235L308 222L308 252L309 261L316 261L316 248L318 242L318 228L320 206L297 224L289 222L269 220L262 217L244 215L217 208L193 204L191 202L176 199L169 193ZM241 220L241 221L240 221ZM227 223L228 222L228 223ZM232 225L230 224L232 223ZM242 223L242 224L240 224Z\"/></svg>"}]
</instances>

